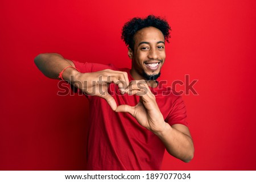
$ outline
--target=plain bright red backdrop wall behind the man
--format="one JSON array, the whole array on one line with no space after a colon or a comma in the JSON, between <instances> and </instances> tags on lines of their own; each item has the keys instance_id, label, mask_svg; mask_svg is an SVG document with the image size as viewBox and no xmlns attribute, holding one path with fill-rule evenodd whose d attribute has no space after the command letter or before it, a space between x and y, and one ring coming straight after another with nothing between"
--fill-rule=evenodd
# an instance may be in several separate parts
<instances>
[{"instance_id":1,"label":"plain bright red backdrop wall behind the man","mask_svg":"<svg viewBox=\"0 0 256 182\"><path fill-rule=\"evenodd\" d=\"M256 170L255 12L253 0L1 1L0 169L85 169L88 102L57 96L34 57L130 67L123 23L155 14L172 27L161 78L199 80L183 96L195 158L166 154L162 169Z\"/></svg>"}]
</instances>

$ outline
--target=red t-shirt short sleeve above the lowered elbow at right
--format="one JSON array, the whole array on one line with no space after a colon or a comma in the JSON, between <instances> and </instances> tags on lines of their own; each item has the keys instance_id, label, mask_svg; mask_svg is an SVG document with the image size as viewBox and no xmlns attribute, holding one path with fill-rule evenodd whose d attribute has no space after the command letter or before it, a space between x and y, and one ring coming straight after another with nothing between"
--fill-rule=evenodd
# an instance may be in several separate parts
<instances>
[{"instance_id":1,"label":"red t-shirt short sleeve above the lowered elbow at right","mask_svg":"<svg viewBox=\"0 0 256 182\"><path fill-rule=\"evenodd\" d=\"M166 122L171 126L181 124L188 127L187 110L181 96L177 97L174 101L172 109L166 118Z\"/></svg>"}]
</instances>

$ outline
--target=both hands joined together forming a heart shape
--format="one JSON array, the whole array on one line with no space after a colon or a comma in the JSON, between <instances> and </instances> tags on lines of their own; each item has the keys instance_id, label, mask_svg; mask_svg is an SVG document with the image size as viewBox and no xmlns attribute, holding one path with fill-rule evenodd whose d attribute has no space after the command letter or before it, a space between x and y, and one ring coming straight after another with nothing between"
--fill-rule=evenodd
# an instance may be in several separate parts
<instances>
[{"instance_id":1,"label":"both hands joined together forming a heart shape","mask_svg":"<svg viewBox=\"0 0 256 182\"><path fill-rule=\"evenodd\" d=\"M82 82L82 80L86 81ZM117 106L114 98L108 93L110 83L117 84L122 94L140 96L138 104L136 106ZM74 85L88 95L104 98L114 111L130 113L140 125L148 130L153 132L164 130L163 115L146 81L133 80L129 82L126 72L105 69L99 72L79 73L75 77Z\"/></svg>"}]
</instances>

